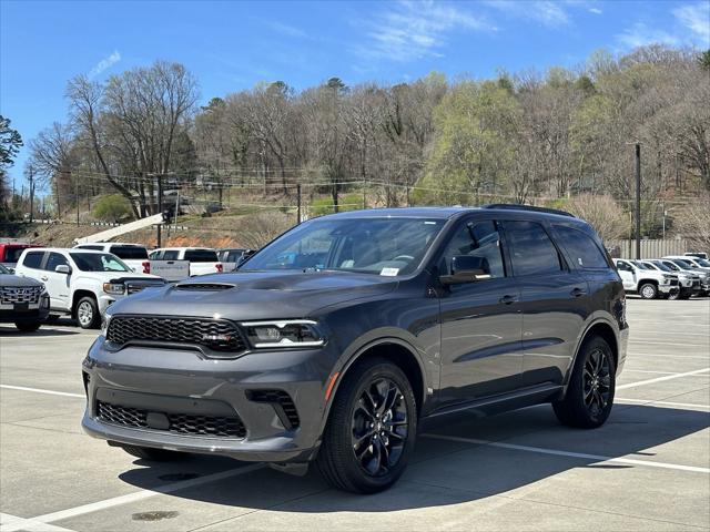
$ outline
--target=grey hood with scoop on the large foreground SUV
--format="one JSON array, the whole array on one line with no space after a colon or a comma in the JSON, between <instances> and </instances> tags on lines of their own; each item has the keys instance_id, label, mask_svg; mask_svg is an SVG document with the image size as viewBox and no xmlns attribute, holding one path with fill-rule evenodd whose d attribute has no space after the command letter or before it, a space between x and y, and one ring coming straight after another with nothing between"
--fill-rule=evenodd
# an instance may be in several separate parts
<instances>
[{"instance_id":1,"label":"grey hood with scoop on the large foreground SUV","mask_svg":"<svg viewBox=\"0 0 710 532\"><path fill-rule=\"evenodd\" d=\"M396 286L393 277L344 272L202 275L135 294L112 305L111 314L300 318L329 305L387 294Z\"/></svg>"}]
</instances>

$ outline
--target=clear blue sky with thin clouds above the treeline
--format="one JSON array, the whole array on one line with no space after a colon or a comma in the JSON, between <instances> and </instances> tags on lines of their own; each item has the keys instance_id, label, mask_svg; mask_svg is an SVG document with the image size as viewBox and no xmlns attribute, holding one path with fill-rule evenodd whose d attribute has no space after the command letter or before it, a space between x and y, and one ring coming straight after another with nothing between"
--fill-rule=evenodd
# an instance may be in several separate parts
<instances>
[{"instance_id":1,"label":"clear blue sky with thin clouds above the treeline","mask_svg":"<svg viewBox=\"0 0 710 532\"><path fill-rule=\"evenodd\" d=\"M0 0L0 113L26 141L65 117L67 80L156 59L196 74L202 101L283 80L296 89L550 65L651 42L710 47L710 0ZM10 171L18 182L27 150Z\"/></svg>"}]
</instances>

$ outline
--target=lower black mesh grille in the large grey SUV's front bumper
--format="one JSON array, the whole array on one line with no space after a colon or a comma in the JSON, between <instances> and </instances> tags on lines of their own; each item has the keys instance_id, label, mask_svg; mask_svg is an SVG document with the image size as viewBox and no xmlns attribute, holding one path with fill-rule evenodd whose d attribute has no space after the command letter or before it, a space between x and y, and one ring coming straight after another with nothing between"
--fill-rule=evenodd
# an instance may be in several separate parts
<instances>
[{"instance_id":1,"label":"lower black mesh grille in the large grey SUV's front bumper","mask_svg":"<svg viewBox=\"0 0 710 532\"><path fill-rule=\"evenodd\" d=\"M123 407L104 401L97 401L97 418L100 421L134 429L153 429L148 424L149 410ZM165 432L182 436L196 436L203 438L235 438L246 436L246 429L239 416L214 417L195 416L191 413L164 413L170 426Z\"/></svg>"}]
</instances>

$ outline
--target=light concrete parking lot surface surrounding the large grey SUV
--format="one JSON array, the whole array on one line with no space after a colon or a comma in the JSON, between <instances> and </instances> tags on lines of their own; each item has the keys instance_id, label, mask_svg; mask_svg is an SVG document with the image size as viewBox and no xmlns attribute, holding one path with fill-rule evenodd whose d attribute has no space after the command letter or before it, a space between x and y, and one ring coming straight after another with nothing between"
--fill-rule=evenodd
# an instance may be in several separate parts
<instances>
[{"instance_id":1,"label":"light concrete parking lot surface surrounding the large grey SUV","mask_svg":"<svg viewBox=\"0 0 710 532\"><path fill-rule=\"evenodd\" d=\"M109 448L80 428L95 332L0 326L0 530L708 530L710 299L630 298L628 316L605 427L564 428L549 406L445 423L371 497L314 471Z\"/></svg>"}]
</instances>

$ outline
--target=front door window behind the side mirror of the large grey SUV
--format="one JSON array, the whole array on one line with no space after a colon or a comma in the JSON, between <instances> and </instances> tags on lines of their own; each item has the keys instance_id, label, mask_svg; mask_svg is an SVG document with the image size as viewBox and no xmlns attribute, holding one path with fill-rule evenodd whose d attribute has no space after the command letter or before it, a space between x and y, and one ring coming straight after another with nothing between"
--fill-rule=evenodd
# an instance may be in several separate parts
<instances>
[{"instance_id":1,"label":"front door window behind the side mirror of the large grey SUV","mask_svg":"<svg viewBox=\"0 0 710 532\"><path fill-rule=\"evenodd\" d=\"M444 272L450 273L452 258L460 255L486 258L490 277L506 275L500 254L500 235L494 222L467 224L458 229L444 252Z\"/></svg>"}]
</instances>

